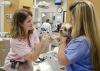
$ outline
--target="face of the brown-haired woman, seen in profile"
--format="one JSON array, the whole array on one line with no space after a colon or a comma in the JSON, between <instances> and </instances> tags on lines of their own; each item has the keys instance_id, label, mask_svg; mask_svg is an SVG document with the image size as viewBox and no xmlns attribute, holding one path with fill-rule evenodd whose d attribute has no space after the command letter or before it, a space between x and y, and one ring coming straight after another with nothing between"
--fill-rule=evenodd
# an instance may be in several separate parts
<instances>
[{"instance_id":1,"label":"face of the brown-haired woman, seen in profile","mask_svg":"<svg viewBox=\"0 0 100 71\"><path fill-rule=\"evenodd\" d=\"M33 26L32 26L32 16L29 15L26 18L26 20L24 21L24 24L22 25L22 27L24 28L24 30L26 32L28 32L29 30L33 29Z\"/></svg>"}]
</instances>

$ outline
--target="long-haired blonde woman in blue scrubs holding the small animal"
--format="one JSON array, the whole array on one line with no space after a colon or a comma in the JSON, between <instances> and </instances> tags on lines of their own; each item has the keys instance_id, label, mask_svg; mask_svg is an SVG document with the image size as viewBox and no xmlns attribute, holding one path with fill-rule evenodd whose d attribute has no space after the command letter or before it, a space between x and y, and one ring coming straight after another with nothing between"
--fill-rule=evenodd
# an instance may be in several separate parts
<instances>
[{"instance_id":1,"label":"long-haired blonde woman in blue scrubs holding the small animal","mask_svg":"<svg viewBox=\"0 0 100 71\"><path fill-rule=\"evenodd\" d=\"M65 71L100 71L99 31L93 4L87 0L75 1L70 12L72 39L67 43L68 37L60 36L59 63L65 65Z\"/></svg>"}]
</instances>

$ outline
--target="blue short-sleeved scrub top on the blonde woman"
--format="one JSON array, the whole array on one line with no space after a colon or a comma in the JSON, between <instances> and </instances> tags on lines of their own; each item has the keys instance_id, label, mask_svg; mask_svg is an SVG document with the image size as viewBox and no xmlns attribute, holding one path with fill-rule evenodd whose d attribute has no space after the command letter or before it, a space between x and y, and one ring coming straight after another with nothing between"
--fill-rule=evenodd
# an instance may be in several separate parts
<instances>
[{"instance_id":1,"label":"blue short-sleeved scrub top on the blonde woman","mask_svg":"<svg viewBox=\"0 0 100 71\"><path fill-rule=\"evenodd\" d=\"M64 50L65 56L70 62L65 67L65 71L92 71L90 48L86 37L80 36L72 39Z\"/></svg>"}]
</instances>

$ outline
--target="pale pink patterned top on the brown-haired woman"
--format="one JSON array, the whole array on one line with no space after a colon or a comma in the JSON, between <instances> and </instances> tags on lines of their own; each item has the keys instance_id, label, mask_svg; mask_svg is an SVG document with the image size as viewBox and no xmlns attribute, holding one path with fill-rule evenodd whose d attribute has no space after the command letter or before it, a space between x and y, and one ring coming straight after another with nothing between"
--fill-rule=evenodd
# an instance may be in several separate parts
<instances>
[{"instance_id":1,"label":"pale pink patterned top on the brown-haired woman","mask_svg":"<svg viewBox=\"0 0 100 71\"><path fill-rule=\"evenodd\" d=\"M30 53L34 50L34 47L37 43L39 43L39 37L36 29L29 37L31 47L28 45L27 40L18 40L18 39L10 39L10 51L5 59L5 64L9 65L10 60L14 59L17 61L24 62L24 55Z\"/></svg>"}]
</instances>

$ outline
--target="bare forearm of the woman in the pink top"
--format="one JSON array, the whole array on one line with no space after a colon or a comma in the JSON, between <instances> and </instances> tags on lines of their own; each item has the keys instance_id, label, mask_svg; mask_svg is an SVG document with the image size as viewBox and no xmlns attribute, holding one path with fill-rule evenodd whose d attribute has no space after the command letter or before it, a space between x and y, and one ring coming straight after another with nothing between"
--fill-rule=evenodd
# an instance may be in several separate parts
<instances>
[{"instance_id":1,"label":"bare forearm of the woman in the pink top","mask_svg":"<svg viewBox=\"0 0 100 71\"><path fill-rule=\"evenodd\" d=\"M35 50L33 50L32 52L26 54L24 56L24 58L27 59L27 60L35 61L39 57L40 53L43 51L45 46L48 44L49 39L50 39L50 36L44 36L41 39L41 42L36 44Z\"/></svg>"}]
</instances>

